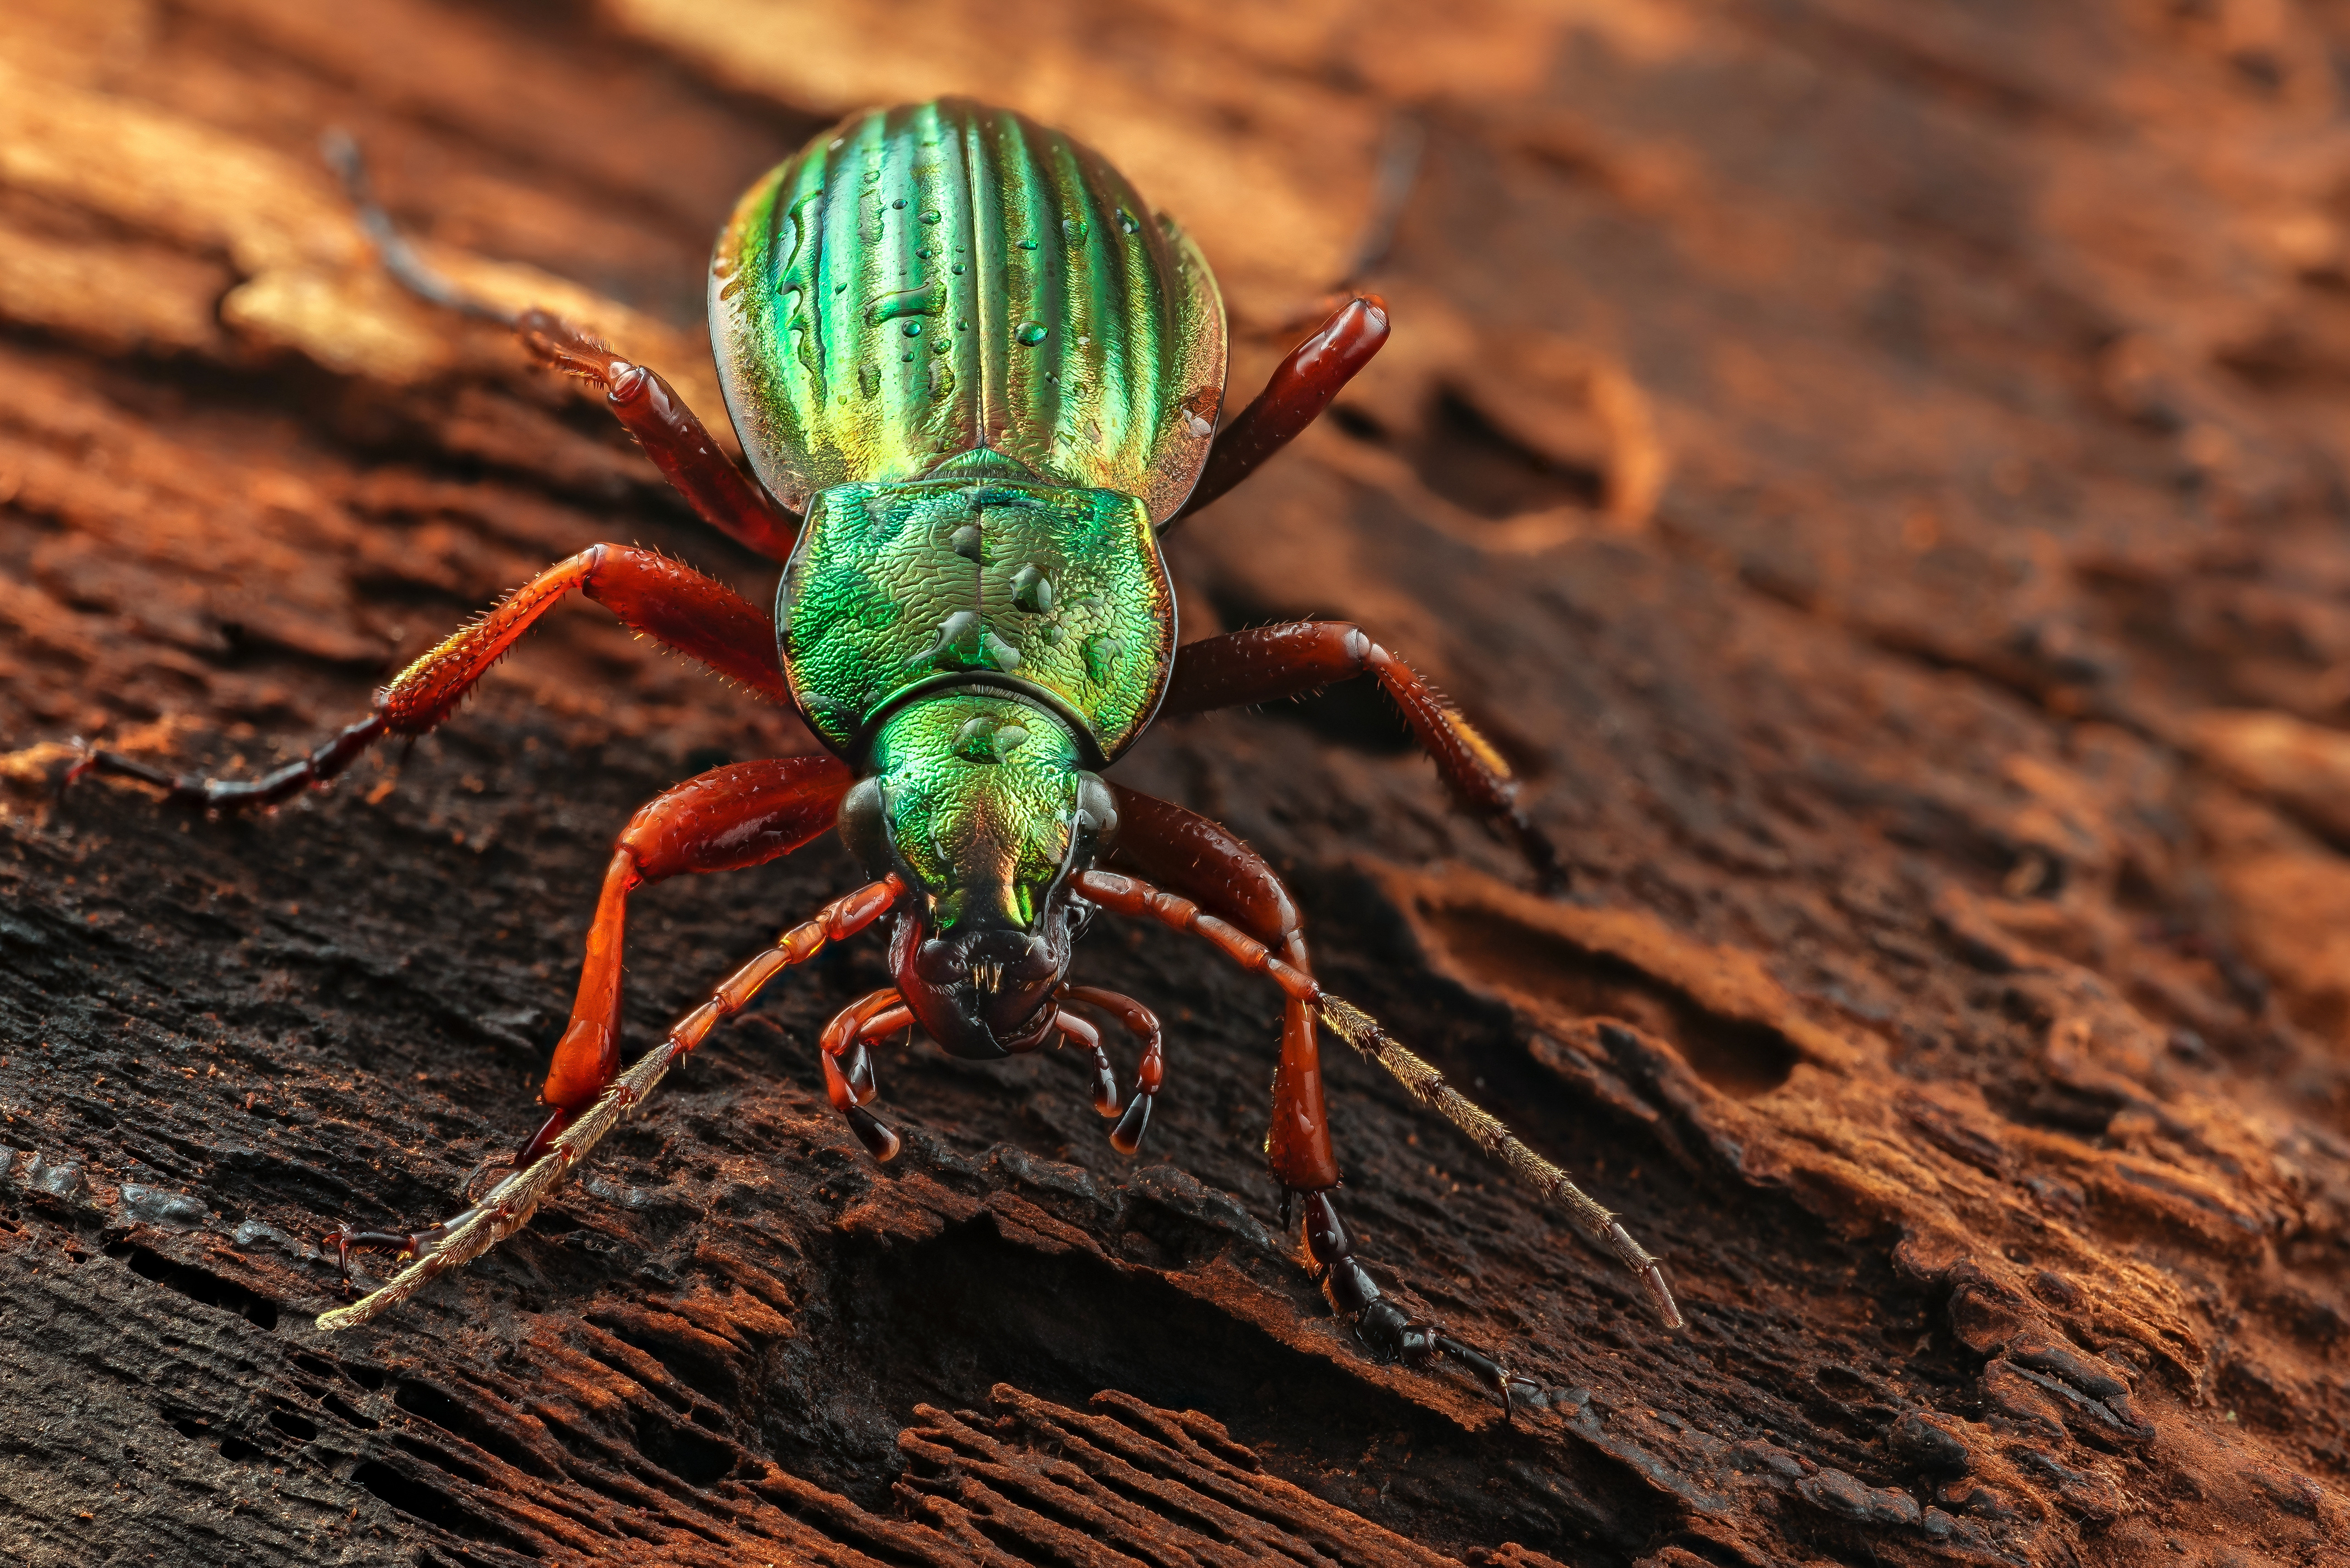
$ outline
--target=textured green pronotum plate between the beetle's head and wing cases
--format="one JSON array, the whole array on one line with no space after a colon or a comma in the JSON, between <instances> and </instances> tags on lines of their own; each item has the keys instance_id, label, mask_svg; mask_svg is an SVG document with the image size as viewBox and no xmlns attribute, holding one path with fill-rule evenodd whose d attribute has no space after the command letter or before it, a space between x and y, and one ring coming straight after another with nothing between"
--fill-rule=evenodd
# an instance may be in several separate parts
<instances>
[{"instance_id":1,"label":"textured green pronotum plate between the beetle's head and wing cases","mask_svg":"<svg viewBox=\"0 0 2350 1568\"><path fill-rule=\"evenodd\" d=\"M1102 766L1166 691L1175 595L1135 496L987 475L837 484L801 527L776 628L799 710L851 762L909 698L989 686L1062 715Z\"/></svg>"}]
</instances>

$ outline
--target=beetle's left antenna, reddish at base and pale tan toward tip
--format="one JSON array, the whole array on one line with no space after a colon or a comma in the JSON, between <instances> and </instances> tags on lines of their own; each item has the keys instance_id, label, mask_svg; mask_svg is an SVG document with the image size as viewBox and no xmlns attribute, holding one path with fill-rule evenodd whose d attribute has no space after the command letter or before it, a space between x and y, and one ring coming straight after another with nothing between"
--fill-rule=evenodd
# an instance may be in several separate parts
<instances>
[{"instance_id":1,"label":"beetle's left antenna, reddish at base and pale tan toward tip","mask_svg":"<svg viewBox=\"0 0 2350 1568\"><path fill-rule=\"evenodd\" d=\"M364 1300L334 1312L322 1312L317 1316L317 1326L331 1333L336 1328L357 1328L360 1324L374 1321L390 1307L397 1307L407 1298L416 1295L439 1274L479 1258L498 1241L505 1241L517 1229L529 1225L538 1204L555 1192L564 1175L571 1173L571 1166L585 1159L597 1140L604 1138L604 1133L609 1133L623 1114L642 1105L670 1067L693 1051L693 1046L703 1044L721 1018L731 1018L750 1006L759 990L785 969L806 964L830 943L839 943L870 926L902 896L905 884L898 882L898 877L884 877L881 882L860 886L855 893L834 898L818 910L815 919L785 931L773 947L726 976L726 980L710 992L707 1001L670 1025L667 1039L646 1051L627 1072L613 1077L613 1081L606 1084L604 1091L585 1110L580 1110L576 1119L571 1119L569 1126L552 1135L524 1168L491 1187L482 1201L465 1213L421 1232L355 1232L348 1225L336 1229L327 1237L324 1246L336 1248L345 1274L350 1269L350 1253L360 1248L390 1248L404 1258L414 1258L416 1262ZM538 1145L533 1140L533 1150Z\"/></svg>"}]
</instances>

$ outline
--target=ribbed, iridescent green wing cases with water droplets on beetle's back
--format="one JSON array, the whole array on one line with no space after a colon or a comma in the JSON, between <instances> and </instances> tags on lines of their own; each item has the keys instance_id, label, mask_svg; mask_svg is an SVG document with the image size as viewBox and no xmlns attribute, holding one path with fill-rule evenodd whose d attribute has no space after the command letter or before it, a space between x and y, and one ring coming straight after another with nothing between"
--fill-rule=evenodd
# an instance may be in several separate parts
<instances>
[{"instance_id":1,"label":"ribbed, iridescent green wing cases with water droplets on beetle's back","mask_svg":"<svg viewBox=\"0 0 2350 1568\"><path fill-rule=\"evenodd\" d=\"M987 449L1175 515L1224 395L1191 240L1097 153L968 99L844 120L743 197L710 270L726 409L792 510Z\"/></svg>"}]
</instances>

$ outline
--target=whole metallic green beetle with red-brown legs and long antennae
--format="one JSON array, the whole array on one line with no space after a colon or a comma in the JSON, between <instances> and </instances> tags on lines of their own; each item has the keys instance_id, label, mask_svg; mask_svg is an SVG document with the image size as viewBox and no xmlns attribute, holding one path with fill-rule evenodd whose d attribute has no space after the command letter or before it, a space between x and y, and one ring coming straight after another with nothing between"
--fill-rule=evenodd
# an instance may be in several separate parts
<instances>
[{"instance_id":1,"label":"whole metallic green beetle with red-brown legs and long antennae","mask_svg":"<svg viewBox=\"0 0 2350 1568\"><path fill-rule=\"evenodd\" d=\"M1069 1041L1095 1107L1133 1154L1166 1081L1159 1018L1069 983L1095 912L1196 933L1283 992L1267 1164L1302 1199L1300 1241L1330 1307L1379 1359L1455 1361L1504 1410L1530 1389L1490 1354L1379 1293L1337 1215L1318 1041L1330 1030L1459 1124L1680 1324L1657 1260L1614 1218L1469 1105L1424 1060L1314 980L1297 905L1217 823L1102 778L1156 715L1375 679L1457 802L1511 835L1544 884L1551 842L1499 752L1361 628L1302 621L1177 642L1166 531L1316 418L1379 350L1386 308L1354 296L1217 430L1224 308L1196 244L1097 153L1018 113L938 99L851 115L768 172L710 263L710 336L736 468L670 383L543 310L465 299L364 200L355 148L329 148L388 268L418 294L510 324L543 364L599 386L693 510L783 562L773 616L651 550L564 559L411 663L374 710L254 780L174 776L108 750L73 773L162 785L202 809L277 806L385 736L439 726L489 668L578 590L625 625L792 708L822 755L736 762L649 802L604 872L545 1121L465 1213L329 1246L409 1267L317 1319L364 1324L519 1229L545 1194L684 1053L780 971L877 924L893 985L822 1030L832 1105L877 1161L900 1138L874 1112L867 1041L919 1025L959 1058ZM726 978L660 1046L620 1067L627 898L689 872L740 870L837 827L870 882ZM1100 1032L1140 1041L1121 1098Z\"/></svg>"}]
</instances>

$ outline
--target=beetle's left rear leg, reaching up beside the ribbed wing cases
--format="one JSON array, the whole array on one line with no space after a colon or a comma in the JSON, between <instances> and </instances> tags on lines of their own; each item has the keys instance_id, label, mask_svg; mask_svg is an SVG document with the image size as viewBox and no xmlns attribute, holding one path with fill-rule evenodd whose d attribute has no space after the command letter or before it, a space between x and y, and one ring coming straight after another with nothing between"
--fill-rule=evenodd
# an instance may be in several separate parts
<instances>
[{"instance_id":1,"label":"beetle's left rear leg, reaching up beside the ribbed wing cases","mask_svg":"<svg viewBox=\"0 0 2350 1568\"><path fill-rule=\"evenodd\" d=\"M357 207L360 228L376 244L383 270L404 289L425 303L512 327L524 350L540 364L595 381L604 388L604 402L613 416L644 447L644 456L653 458L653 468L677 487L703 522L771 559L780 562L792 555L799 517L776 505L766 489L726 461L703 421L658 371L630 364L592 331L548 310L505 310L472 299L425 266L392 226L390 214L376 205L360 146L348 134L329 132L322 150L343 176L350 202Z\"/></svg>"}]
</instances>

